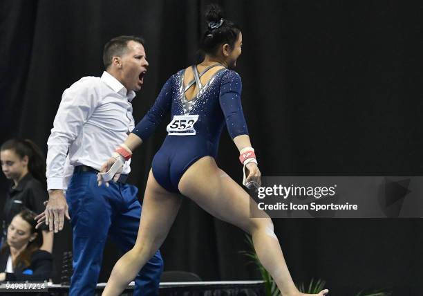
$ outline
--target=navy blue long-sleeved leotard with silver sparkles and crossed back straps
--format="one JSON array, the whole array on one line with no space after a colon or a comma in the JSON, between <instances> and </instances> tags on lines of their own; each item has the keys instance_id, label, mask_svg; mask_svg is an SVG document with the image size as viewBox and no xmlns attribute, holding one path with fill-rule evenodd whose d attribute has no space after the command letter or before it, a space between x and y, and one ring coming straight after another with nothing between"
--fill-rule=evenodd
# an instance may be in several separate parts
<instances>
[{"instance_id":1,"label":"navy blue long-sleeved leotard with silver sparkles and crossed back straps","mask_svg":"<svg viewBox=\"0 0 423 296\"><path fill-rule=\"evenodd\" d=\"M200 86L200 91L192 100L185 97L188 88L183 85L185 70L178 71L167 80L153 107L132 131L142 140L147 140L169 110L172 119L175 115L198 115L194 124L195 135L168 134L153 158L153 176L169 192L179 192L178 183L182 174L196 160L204 156L216 158L225 124L232 139L248 134L241 107L242 84L238 73L220 69L207 84L201 86L195 66L193 71L196 77L196 82L193 82Z\"/></svg>"}]
</instances>

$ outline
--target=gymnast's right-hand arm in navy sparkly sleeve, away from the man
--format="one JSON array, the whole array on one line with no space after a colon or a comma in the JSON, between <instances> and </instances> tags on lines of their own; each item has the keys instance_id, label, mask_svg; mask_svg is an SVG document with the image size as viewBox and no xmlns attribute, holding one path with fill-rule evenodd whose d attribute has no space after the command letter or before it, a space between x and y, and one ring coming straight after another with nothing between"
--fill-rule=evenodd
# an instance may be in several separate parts
<instances>
[{"instance_id":1,"label":"gymnast's right-hand arm in navy sparkly sleeve, away from the man","mask_svg":"<svg viewBox=\"0 0 423 296\"><path fill-rule=\"evenodd\" d=\"M243 88L241 77L234 71L227 71L222 77L220 85L220 108L225 115L225 121L229 136L238 150L251 147L250 136L248 136L247 123L245 122L243 107L241 105L241 90ZM259 167L256 163L247 163L249 174L247 182L252 177L261 176Z\"/></svg>"}]
</instances>

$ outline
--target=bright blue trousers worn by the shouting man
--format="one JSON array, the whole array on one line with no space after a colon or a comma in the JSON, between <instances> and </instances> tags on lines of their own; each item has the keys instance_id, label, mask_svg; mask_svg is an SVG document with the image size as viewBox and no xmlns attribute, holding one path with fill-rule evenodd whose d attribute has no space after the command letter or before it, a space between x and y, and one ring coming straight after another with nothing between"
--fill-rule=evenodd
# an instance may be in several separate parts
<instances>
[{"instance_id":1,"label":"bright blue trousers worn by the shouting man","mask_svg":"<svg viewBox=\"0 0 423 296\"><path fill-rule=\"evenodd\" d=\"M71 296L94 295L106 238L124 252L135 244L141 205L133 185L111 182L97 186L94 172L73 174L66 200L73 228L73 275ZM160 252L140 270L133 295L158 295L163 261Z\"/></svg>"}]
</instances>

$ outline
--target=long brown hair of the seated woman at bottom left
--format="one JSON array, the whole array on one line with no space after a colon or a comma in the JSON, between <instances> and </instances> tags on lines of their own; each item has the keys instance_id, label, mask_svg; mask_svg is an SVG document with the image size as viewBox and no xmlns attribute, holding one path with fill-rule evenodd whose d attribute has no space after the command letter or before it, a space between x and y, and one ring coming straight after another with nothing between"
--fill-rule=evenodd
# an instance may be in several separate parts
<instances>
[{"instance_id":1,"label":"long brown hair of the seated woman at bottom left","mask_svg":"<svg viewBox=\"0 0 423 296\"><path fill-rule=\"evenodd\" d=\"M43 234L41 232L41 229L40 228L35 229L35 225L37 225L37 221L35 221L35 216L37 216L37 214L26 209L26 210L22 210L17 215L21 216L23 220L25 220L26 222L28 222L29 225L31 225L31 230L30 230L31 234L37 233L38 235L33 241L28 242L28 246L26 246L25 250L23 250L21 254L19 254L16 260L13 262L14 268L20 265L30 266L32 254L34 254L35 251L39 250L39 248L41 248L43 244ZM7 241L5 241L0 252L1 253L6 252L8 248L10 247Z\"/></svg>"}]
</instances>

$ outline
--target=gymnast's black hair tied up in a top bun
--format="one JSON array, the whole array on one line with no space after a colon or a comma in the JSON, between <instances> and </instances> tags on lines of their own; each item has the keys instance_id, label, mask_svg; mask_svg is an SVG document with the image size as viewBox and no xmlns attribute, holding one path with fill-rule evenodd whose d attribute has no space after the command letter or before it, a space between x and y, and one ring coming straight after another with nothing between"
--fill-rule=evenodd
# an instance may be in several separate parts
<instances>
[{"instance_id":1,"label":"gymnast's black hair tied up in a top bun","mask_svg":"<svg viewBox=\"0 0 423 296\"><path fill-rule=\"evenodd\" d=\"M200 40L200 50L207 55L216 55L221 44L229 44L232 49L238 40L241 28L228 19L224 19L222 10L217 4L209 4L205 19L207 29Z\"/></svg>"}]
</instances>

